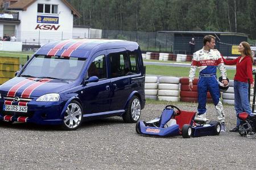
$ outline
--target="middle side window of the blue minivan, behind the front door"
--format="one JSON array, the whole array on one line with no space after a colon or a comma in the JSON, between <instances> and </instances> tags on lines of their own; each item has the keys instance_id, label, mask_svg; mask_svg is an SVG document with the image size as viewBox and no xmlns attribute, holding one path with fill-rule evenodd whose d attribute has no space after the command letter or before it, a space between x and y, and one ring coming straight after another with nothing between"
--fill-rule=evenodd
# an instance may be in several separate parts
<instances>
[{"instance_id":1,"label":"middle side window of the blue minivan, behind the front door","mask_svg":"<svg viewBox=\"0 0 256 170\"><path fill-rule=\"evenodd\" d=\"M127 53L110 53L109 56L112 78L125 76L130 72L130 60Z\"/></svg>"}]
</instances>

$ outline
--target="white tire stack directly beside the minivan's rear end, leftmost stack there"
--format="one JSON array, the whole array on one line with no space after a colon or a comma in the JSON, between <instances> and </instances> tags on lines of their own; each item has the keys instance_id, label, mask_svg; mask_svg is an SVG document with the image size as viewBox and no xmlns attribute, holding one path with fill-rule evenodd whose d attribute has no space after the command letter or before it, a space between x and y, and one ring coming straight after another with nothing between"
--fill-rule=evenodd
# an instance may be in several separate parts
<instances>
[{"instance_id":1,"label":"white tire stack directly beside the minivan's rear end, leftmost stack there","mask_svg":"<svg viewBox=\"0 0 256 170\"><path fill-rule=\"evenodd\" d=\"M146 76L145 77L145 98L158 99L158 77Z\"/></svg>"}]
</instances>

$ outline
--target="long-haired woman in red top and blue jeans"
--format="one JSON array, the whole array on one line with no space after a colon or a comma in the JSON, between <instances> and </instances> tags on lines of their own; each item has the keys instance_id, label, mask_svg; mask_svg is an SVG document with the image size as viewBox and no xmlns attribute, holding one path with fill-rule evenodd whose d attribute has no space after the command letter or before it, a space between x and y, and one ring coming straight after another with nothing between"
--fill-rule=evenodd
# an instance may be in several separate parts
<instances>
[{"instance_id":1,"label":"long-haired woman in red top and blue jeans","mask_svg":"<svg viewBox=\"0 0 256 170\"><path fill-rule=\"evenodd\" d=\"M249 84L251 87L254 86L253 80L253 55L251 53L250 45L247 42L241 42L238 46L238 52L241 53L241 56L233 60L226 60L224 57L225 65L236 65L236 75L234 76L234 108L236 113L246 112L250 116L254 116L251 112L249 100L248 100L248 87ZM248 84L249 82L249 84ZM238 126L240 120L237 118L237 126L233 128L232 132L238 131Z\"/></svg>"}]
</instances>

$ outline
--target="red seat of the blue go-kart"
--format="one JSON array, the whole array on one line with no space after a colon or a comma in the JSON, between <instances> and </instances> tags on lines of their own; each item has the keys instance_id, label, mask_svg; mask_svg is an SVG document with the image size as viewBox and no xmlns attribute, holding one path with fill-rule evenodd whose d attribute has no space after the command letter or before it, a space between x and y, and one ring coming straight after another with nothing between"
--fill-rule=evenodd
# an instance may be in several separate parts
<instances>
[{"instance_id":1,"label":"red seat of the blue go-kart","mask_svg":"<svg viewBox=\"0 0 256 170\"><path fill-rule=\"evenodd\" d=\"M175 116L175 120L179 128L184 124L192 125L192 121L196 116L196 112L181 111L179 115Z\"/></svg>"}]
</instances>

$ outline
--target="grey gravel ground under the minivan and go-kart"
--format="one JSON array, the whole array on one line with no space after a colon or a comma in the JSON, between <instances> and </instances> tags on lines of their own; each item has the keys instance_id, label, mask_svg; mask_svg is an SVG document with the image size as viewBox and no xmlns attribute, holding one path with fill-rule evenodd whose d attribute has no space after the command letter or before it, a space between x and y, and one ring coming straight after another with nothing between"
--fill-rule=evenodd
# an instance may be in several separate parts
<instances>
[{"instance_id":1,"label":"grey gravel ground under the minivan and go-kart","mask_svg":"<svg viewBox=\"0 0 256 170\"><path fill-rule=\"evenodd\" d=\"M177 103L196 111L197 104ZM146 104L141 120L160 116L165 105ZM215 120L214 105L208 118ZM224 105L226 126L236 124L234 106ZM122 118L84 122L76 131L22 123L0 125L0 169L255 169L256 138L226 131L184 139L149 137Z\"/></svg>"}]
</instances>

